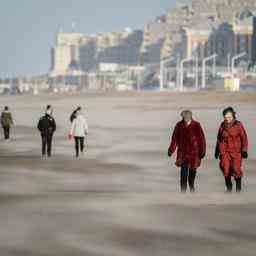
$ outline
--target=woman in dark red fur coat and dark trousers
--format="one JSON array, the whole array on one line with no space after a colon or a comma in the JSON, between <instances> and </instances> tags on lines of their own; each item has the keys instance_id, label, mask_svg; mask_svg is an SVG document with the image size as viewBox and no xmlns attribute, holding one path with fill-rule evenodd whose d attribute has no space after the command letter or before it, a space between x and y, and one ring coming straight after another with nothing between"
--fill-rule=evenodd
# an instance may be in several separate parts
<instances>
[{"instance_id":1,"label":"woman in dark red fur coat and dark trousers","mask_svg":"<svg viewBox=\"0 0 256 256\"><path fill-rule=\"evenodd\" d=\"M171 157L177 148L176 165L181 167L181 192L186 192L187 182L191 192L195 191L194 183L196 170L205 157L206 142L200 123L192 119L192 112L185 110L181 113L182 121L176 124L168 156Z\"/></svg>"}]
</instances>

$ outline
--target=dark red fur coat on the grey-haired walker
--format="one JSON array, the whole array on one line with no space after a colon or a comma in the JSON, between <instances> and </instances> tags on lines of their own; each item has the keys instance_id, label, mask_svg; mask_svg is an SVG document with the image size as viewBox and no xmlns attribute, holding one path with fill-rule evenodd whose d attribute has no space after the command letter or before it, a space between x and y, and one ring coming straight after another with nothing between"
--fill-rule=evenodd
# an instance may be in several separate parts
<instances>
[{"instance_id":1,"label":"dark red fur coat on the grey-haired walker","mask_svg":"<svg viewBox=\"0 0 256 256\"><path fill-rule=\"evenodd\" d=\"M198 168L201 159L205 156L206 142L203 129L199 122L191 121L186 125L185 121L176 124L169 153L173 154L177 149L176 165L188 164L189 168Z\"/></svg>"}]
</instances>

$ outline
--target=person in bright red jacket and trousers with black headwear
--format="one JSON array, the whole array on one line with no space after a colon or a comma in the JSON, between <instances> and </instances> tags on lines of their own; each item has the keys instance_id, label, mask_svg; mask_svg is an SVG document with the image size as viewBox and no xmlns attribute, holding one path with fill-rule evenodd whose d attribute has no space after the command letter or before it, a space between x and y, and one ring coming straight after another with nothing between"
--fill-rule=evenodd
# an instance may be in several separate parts
<instances>
[{"instance_id":1,"label":"person in bright red jacket and trousers with black headwear","mask_svg":"<svg viewBox=\"0 0 256 256\"><path fill-rule=\"evenodd\" d=\"M223 111L224 121L221 123L215 149L215 158L220 159L227 192L232 191L232 177L236 181L236 191L242 190L242 158L248 158L248 139L243 124L236 119L232 107Z\"/></svg>"}]
</instances>

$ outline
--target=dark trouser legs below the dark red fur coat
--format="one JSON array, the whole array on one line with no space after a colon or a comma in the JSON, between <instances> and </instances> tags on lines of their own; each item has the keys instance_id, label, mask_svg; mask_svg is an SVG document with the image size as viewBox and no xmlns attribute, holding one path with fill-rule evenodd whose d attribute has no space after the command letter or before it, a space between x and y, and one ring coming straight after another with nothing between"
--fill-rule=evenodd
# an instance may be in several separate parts
<instances>
[{"instance_id":1,"label":"dark trouser legs below the dark red fur coat","mask_svg":"<svg viewBox=\"0 0 256 256\"><path fill-rule=\"evenodd\" d=\"M180 188L181 192L187 191L187 184L191 192L195 191L196 169L189 168L187 164L183 164L180 170Z\"/></svg>"}]
</instances>

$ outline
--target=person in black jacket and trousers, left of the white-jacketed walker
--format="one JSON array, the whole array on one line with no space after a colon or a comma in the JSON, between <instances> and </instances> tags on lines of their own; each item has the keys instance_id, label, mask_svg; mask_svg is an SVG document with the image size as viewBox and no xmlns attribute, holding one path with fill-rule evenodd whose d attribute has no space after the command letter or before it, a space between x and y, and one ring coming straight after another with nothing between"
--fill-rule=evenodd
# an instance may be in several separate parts
<instances>
[{"instance_id":1,"label":"person in black jacket and trousers, left of the white-jacketed walker","mask_svg":"<svg viewBox=\"0 0 256 256\"><path fill-rule=\"evenodd\" d=\"M53 109L50 105L46 107L45 115L42 116L38 122L37 128L42 137L42 156L51 157L52 154L52 138L56 131L56 123L52 116ZM47 150L46 150L47 149Z\"/></svg>"}]
</instances>

